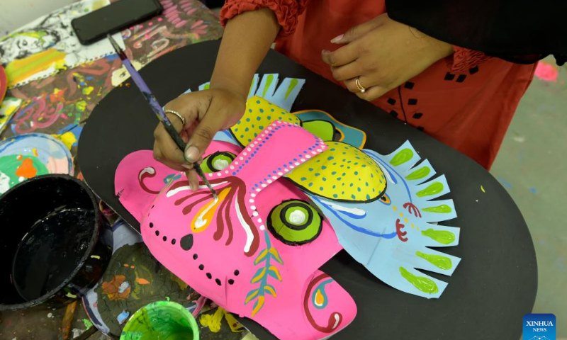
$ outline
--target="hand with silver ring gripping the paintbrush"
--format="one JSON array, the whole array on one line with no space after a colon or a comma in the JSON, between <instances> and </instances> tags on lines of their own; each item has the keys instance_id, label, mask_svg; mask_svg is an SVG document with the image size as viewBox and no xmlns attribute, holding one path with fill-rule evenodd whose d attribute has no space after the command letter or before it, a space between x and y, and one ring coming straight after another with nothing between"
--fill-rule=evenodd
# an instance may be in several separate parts
<instances>
[{"instance_id":1,"label":"hand with silver ring gripping the paintbrush","mask_svg":"<svg viewBox=\"0 0 567 340\"><path fill-rule=\"evenodd\" d=\"M185 118L185 125L173 113L166 113L187 147L182 152L162 123L154 131L154 158L172 169L186 171L191 190L198 188L193 163L199 162L216 132L235 125L244 114L246 98L226 89L182 94L165 106ZM184 154L185 153L185 154Z\"/></svg>"}]
</instances>

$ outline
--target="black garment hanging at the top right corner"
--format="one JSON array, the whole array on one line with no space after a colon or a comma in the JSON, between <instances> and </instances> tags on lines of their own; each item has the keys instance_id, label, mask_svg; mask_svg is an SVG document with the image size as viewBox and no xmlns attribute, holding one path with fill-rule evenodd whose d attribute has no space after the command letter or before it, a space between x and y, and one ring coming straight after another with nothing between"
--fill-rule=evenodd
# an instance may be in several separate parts
<instances>
[{"instance_id":1,"label":"black garment hanging at the top right corner","mask_svg":"<svg viewBox=\"0 0 567 340\"><path fill-rule=\"evenodd\" d=\"M567 0L386 0L388 16L510 62L567 61Z\"/></svg>"}]
</instances>

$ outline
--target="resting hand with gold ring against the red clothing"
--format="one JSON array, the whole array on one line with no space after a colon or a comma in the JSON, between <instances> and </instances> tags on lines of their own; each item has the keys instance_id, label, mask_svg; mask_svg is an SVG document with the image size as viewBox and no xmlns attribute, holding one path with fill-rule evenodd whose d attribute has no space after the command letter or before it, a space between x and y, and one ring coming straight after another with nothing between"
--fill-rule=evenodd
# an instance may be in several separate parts
<instances>
[{"instance_id":1,"label":"resting hand with gold ring against the red clothing","mask_svg":"<svg viewBox=\"0 0 567 340\"><path fill-rule=\"evenodd\" d=\"M331 67L335 79L366 101L386 94L453 53L447 42L393 21L386 13L350 28L331 42L344 46L334 52L323 50L323 62Z\"/></svg>"}]
</instances>

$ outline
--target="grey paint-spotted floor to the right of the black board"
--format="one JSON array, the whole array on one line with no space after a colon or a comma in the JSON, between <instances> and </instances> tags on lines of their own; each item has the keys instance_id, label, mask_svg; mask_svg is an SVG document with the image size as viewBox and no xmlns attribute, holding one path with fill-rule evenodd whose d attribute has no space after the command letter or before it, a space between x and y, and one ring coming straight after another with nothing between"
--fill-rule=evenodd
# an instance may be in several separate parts
<instances>
[{"instance_id":1,"label":"grey paint-spotted floor to the right of the black board","mask_svg":"<svg viewBox=\"0 0 567 340\"><path fill-rule=\"evenodd\" d=\"M515 200L534 239L534 313L553 313L558 325L567 324L566 94L567 67L546 58L537 67L490 171ZM567 327L558 327L557 336L567 338Z\"/></svg>"}]
</instances>

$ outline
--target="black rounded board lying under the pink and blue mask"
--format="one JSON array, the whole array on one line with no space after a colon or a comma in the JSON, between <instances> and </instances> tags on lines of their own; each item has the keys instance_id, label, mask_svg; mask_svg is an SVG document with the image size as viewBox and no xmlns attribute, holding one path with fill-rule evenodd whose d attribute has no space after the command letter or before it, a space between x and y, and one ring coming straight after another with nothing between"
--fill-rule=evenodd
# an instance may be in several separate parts
<instances>
[{"instance_id":1,"label":"black rounded board lying under the pink and blue mask","mask_svg":"<svg viewBox=\"0 0 567 340\"><path fill-rule=\"evenodd\" d=\"M210 79L218 47L218 41L183 47L151 62L140 73L164 105ZM358 307L354 322L333 339L520 339L522 317L532 311L536 297L537 261L522 214L498 181L463 154L278 52L269 52L258 73L306 79L292 111L331 113L364 130L367 149L387 154L410 140L437 173L447 176L448 197L459 215L443 223L461 228L459 245L443 249L462 259L459 267L448 278L428 273L449 283L439 299L427 300L391 288L345 251L322 266ZM138 230L138 222L114 195L114 173L130 152L152 149L157 123L136 86L120 86L94 108L79 140L79 166L86 183ZM258 324L248 319L242 322L259 339L274 339Z\"/></svg>"}]
</instances>

